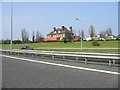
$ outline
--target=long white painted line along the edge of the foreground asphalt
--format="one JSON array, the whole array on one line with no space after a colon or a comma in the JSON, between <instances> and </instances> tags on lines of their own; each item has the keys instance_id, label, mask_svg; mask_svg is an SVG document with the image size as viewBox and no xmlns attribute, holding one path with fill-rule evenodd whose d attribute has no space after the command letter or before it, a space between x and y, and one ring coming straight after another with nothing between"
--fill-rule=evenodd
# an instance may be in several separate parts
<instances>
[{"instance_id":1,"label":"long white painted line along the edge of the foreground asphalt","mask_svg":"<svg viewBox=\"0 0 120 90\"><path fill-rule=\"evenodd\" d=\"M54 66L61 66L61 67L67 67L67 68L73 68L73 69L81 69L81 70L87 70L87 71L94 71L94 72L101 72L101 73L108 73L108 74L117 74L117 75L120 75L120 73L113 72L113 71L98 70L98 69L78 67L78 66L71 66L71 65L65 65L65 64L57 64L57 63L51 63L51 62L45 62L45 61L37 61L37 60L31 60L31 59L25 59L25 58L18 58L18 57L7 56L7 55L0 55L0 56L4 56L4 57L8 57L8 58L14 58L14 59L20 59L20 60L24 60L24 61L36 62L36 63L49 64L49 65L54 65Z\"/></svg>"}]
</instances>

